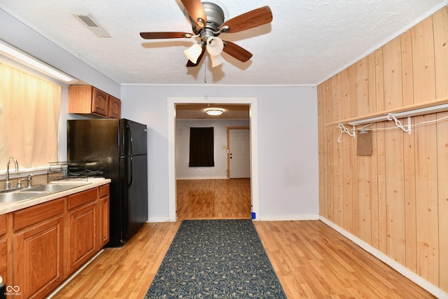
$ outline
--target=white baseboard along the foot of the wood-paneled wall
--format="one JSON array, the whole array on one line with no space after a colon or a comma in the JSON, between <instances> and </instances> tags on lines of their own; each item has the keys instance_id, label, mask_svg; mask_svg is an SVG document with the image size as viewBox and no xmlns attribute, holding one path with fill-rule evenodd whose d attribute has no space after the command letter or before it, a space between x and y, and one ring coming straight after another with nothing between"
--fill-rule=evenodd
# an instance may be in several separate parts
<instances>
[{"instance_id":1,"label":"white baseboard along the foot of the wood-paneled wall","mask_svg":"<svg viewBox=\"0 0 448 299\"><path fill-rule=\"evenodd\" d=\"M396 260L393 260L392 258L386 256L386 254L382 253L378 249L374 248L367 242L364 242L362 239L359 239L355 235L352 235L350 232L344 230L344 228L341 228L340 226L336 225L335 223L332 223L327 218L323 216L319 216L319 220L325 223L326 225L330 226L330 228L336 230L341 235L344 235L344 237L350 239L353 243L360 246L362 249L367 251L368 253L372 254L375 258L378 258L379 260L383 261L387 265L391 266L394 270L402 274L407 279L413 281L415 284L421 286L429 293L435 295L437 298L448 298L448 293L443 291L441 288L438 288L434 284L431 284L426 279L423 279L423 277L419 276L415 272L412 272L404 265L398 263Z\"/></svg>"}]
</instances>

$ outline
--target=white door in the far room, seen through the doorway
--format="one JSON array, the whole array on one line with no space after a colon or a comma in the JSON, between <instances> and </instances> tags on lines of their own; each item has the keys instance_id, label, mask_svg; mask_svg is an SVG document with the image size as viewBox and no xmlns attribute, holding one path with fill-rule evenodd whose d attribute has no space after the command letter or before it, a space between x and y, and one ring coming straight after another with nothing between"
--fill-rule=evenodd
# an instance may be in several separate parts
<instances>
[{"instance_id":1,"label":"white door in the far room, seen through the doorway","mask_svg":"<svg viewBox=\"0 0 448 299\"><path fill-rule=\"evenodd\" d=\"M229 130L229 177L251 177L251 143L248 129Z\"/></svg>"}]
</instances>

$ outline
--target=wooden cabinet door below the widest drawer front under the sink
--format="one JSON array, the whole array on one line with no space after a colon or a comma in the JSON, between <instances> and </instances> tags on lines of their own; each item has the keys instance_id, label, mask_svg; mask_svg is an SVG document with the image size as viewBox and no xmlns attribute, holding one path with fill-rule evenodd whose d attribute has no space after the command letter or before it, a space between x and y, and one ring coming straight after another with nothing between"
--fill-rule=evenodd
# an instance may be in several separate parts
<instances>
[{"instance_id":1,"label":"wooden cabinet door below the widest drawer front under the sink","mask_svg":"<svg viewBox=\"0 0 448 299\"><path fill-rule=\"evenodd\" d=\"M64 216L13 235L13 286L21 298L42 298L64 279Z\"/></svg>"}]
</instances>

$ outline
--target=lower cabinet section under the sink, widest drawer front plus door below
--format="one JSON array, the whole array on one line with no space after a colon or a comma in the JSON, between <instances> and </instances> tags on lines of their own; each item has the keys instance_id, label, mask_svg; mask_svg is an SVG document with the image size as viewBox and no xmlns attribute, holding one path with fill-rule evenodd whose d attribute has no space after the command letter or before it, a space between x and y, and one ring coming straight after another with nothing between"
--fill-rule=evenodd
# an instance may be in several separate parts
<instances>
[{"instance_id":1,"label":"lower cabinet section under the sink, widest drawer front plus door below","mask_svg":"<svg viewBox=\"0 0 448 299\"><path fill-rule=\"evenodd\" d=\"M13 212L13 284L42 298L64 279L64 200Z\"/></svg>"}]
</instances>

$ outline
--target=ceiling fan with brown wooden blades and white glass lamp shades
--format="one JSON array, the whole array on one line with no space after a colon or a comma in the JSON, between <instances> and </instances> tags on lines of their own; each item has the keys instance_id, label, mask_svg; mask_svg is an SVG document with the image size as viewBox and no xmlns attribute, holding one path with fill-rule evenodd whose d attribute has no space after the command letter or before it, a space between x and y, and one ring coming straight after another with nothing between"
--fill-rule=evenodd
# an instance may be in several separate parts
<instances>
[{"instance_id":1,"label":"ceiling fan with brown wooden blades and white glass lamp shades","mask_svg":"<svg viewBox=\"0 0 448 299\"><path fill-rule=\"evenodd\" d=\"M221 33L241 32L272 22L272 11L269 6L248 11L224 22L223 9L214 3L201 3L200 0L181 0L181 2L188 12L194 34L188 32L140 32L140 36L144 39L200 38L200 42L184 51L188 57L187 67L196 67L206 50L211 57L212 67L216 67L224 61L221 52L225 52L241 62L250 60L252 53L231 41L223 41L218 36Z\"/></svg>"}]
</instances>

